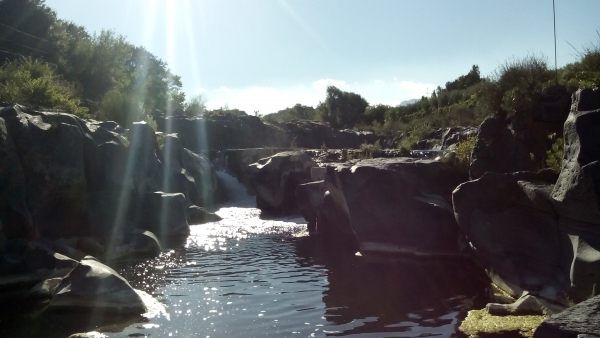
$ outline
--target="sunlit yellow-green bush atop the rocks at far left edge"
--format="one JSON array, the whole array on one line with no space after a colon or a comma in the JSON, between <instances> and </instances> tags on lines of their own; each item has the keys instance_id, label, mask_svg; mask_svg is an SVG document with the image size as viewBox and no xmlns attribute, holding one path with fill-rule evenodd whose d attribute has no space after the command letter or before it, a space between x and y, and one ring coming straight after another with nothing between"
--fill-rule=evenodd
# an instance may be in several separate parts
<instances>
[{"instance_id":1,"label":"sunlit yellow-green bush atop the rocks at far left edge","mask_svg":"<svg viewBox=\"0 0 600 338\"><path fill-rule=\"evenodd\" d=\"M86 117L88 112L80 106L71 84L56 75L49 64L31 58L0 67L0 101L64 109L80 117Z\"/></svg>"}]
</instances>

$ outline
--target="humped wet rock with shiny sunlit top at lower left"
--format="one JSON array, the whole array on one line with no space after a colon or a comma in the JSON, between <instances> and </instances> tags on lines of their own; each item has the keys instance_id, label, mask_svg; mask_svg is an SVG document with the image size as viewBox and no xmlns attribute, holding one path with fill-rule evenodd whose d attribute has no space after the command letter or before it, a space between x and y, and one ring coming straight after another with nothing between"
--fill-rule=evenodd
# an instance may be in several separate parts
<instances>
[{"instance_id":1,"label":"humped wet rock with shiny sunlit top at lower left","mask_svg":"<svg viewBox=\"0 0 600 338\"><path fill-rule=\"evenodd\" d=\"M58 285L49 309L146 312L140 296L110 267L93 258L82 260Z\"/></svg>"}]
</instances>

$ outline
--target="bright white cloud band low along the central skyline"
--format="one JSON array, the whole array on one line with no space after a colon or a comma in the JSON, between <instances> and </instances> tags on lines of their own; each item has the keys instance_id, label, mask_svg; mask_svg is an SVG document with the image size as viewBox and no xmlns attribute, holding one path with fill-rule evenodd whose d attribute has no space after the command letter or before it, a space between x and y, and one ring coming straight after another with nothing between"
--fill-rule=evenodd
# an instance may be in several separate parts
<instances>
[{"instance_id":1,"label":"bright white cloud band low along the central skyline","mask_svg":"<svg viewBox=\"0 0 600 338\"><path fill-rule=\"evenodd\" d=\"M373 80L353 84L352 88L342 80L321 79L314 81L312 86L295 86L288 88L249 87L227 88L221 86L202 93L207 98L208 109L218 109L227 105L253 114L259 111L261 115L277 112L292 107L297 103L316 107L325 99L327 86L336 86L342 90L362 95L369 104L387 104L395 106L404 100L418 99L431 93L437 85L393 80Z\"/></svg>"}]
</instances>

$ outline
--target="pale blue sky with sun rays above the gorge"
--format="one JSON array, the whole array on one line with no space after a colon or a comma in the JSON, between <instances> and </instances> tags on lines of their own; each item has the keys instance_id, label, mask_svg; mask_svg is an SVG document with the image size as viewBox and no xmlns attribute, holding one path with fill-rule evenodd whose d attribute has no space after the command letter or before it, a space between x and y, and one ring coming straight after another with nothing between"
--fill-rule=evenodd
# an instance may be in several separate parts
<instances>
[{"instance_id":1,"label":"pale blue sky with sun rays above the gorge","mask_svg":"<svg viewBox=\"0 0 600 338\"><path fill-rule=\"evenodd\" d=\"M209 109L316 106L329 85L370 104L428 95L479 65L543 55L552 0L46 0L88 32L114 30L169 64ZM557 62L600 43L599 0L556 0ZM575 49L573 48L575 47Z\"/></svg>"}]
</instances>

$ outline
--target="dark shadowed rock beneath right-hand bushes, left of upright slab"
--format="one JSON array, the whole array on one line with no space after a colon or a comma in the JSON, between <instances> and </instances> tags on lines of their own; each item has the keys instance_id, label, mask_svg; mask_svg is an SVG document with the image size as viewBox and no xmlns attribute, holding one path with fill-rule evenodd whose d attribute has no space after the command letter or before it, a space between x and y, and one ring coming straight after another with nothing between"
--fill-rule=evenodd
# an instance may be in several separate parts
<instances>
[{"instance_id":1,"label":"dark shadowed rock beneath right-hand bushes, left of upright slab","mask_svg":"<svg viewBox=\"0 0 600 338\"><path fill-rule=\"evenodd\" d=\"M562 135L569 103L569 94L563 87L550 87L543 91L535 111L483 121L473 149L471 178L488 171L510 173L542 168L551 143L548 135Z\"/></svg>"}]
</instances>

